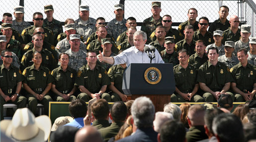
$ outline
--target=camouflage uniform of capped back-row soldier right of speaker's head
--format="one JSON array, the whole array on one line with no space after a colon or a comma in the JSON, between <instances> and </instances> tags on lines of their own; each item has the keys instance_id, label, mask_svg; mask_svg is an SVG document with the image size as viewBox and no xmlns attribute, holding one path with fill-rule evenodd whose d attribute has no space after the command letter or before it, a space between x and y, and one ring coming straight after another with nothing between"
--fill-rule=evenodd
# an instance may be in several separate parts
<instances>
[{"instance_id":1,"label":"camouflage uniform of capped back-row soldier right of speaker's head","mask_svg":"<svg viewBox=\"0 0 256 142\"><path fill-rule=\"evenodd\" d=\"M147 34L147 39L150 38L150 34L154 32L158 25L162 25L163 17L160 16L160 19L156 21L153 16L145 19L141 26L141 31Z\"/></svg>"}]
</instances>

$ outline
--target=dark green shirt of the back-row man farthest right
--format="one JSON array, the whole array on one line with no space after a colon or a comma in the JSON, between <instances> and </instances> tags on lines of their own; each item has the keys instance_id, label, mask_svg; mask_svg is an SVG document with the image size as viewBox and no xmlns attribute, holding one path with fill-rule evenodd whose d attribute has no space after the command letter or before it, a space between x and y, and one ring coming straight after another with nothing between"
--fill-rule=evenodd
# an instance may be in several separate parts
<instances>
[{"instance_id":1,"label":"dark green shirt of the back-row man farthest right","mask_svg":"<svg viewBox=\"0 0 256 142\"><path fill-rule=\"evenodd\" d=\"M220 18L211 23L208 32L212 33L216 30L225 31L230 27L229 20L227 19L224 24L221 23Z\"/></svg>"}]
</instances>

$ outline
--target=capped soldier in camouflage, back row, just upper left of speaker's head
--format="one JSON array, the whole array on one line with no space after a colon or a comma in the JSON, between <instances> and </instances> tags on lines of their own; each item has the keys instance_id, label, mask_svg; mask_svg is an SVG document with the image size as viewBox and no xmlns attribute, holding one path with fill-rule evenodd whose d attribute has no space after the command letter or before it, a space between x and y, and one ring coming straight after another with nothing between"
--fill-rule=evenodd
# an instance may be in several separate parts
<instances>
[{"instance_id":1,"label":"capped soldier in camouflage, back row, just upper left of speaker's head","mask_svg":"<svg viewBox=\"0 0 256 142\"><path fill-rule=\"evenodd\" d=\"M125 26L126 19L123 18L124 15L124 5L115 4L115 18L107 23L107 32L113 36L116 41L117 37L127 30Z\"/></svg>"}]
</instances>

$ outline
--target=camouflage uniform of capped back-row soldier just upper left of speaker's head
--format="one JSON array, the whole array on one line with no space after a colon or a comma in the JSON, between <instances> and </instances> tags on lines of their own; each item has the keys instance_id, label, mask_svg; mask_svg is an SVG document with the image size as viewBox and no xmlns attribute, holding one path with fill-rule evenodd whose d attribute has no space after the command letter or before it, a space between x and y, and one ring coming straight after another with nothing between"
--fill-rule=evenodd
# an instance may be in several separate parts
<instances>
[{"instance_id":1,"label":"camouflage uniform of capped back-row soldier just upper left of speaker's head","mask_svg":"<svg viewBox=\"0 0 256 142\"><path fill-rule=\"evenodd\" d=\"M107 23L107 33L113 36L114 40L116 41L117 37L123 33L126 32L127 27L125 26L126 19L123 18L122 21L117 21L116 19L113 19Z\"/></svg>"}]
</instances>

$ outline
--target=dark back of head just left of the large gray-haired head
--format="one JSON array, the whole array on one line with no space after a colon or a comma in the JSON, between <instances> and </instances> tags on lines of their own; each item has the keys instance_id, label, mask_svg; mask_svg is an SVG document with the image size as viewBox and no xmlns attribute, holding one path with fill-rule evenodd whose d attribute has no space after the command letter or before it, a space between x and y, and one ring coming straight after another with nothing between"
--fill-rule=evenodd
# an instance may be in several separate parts
<instances>
[{"instance_id":1,"label":"dark back of head just left of the large gray-haired head","mask_svg":"<svg viewBox=\"0 0 256 142\"><path fill-rule=\"evenodd\" d=\"M123 122L127 116L127 108L123 101L117 101L111 106L111 117L114 122Z\"/></svg>"}]
</instances>

